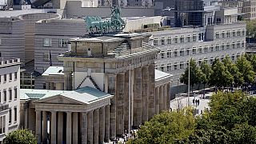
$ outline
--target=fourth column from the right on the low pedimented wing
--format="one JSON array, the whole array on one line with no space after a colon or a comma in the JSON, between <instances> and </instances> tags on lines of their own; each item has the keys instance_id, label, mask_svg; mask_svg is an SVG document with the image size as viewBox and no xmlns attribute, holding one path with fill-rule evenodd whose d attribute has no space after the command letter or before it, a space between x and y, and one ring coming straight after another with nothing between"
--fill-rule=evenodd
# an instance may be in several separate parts
<instances>
[{"instance_id":1,"label":"fourth column from the right on the low pedimented wing","mask_svg":"<svg viewBox=\"0 0 256 144\"><path fill-rule=\"evenodd\" d=\"M93 126L94 126L94 118L93 118L93 111L89 111L88 112L88 115L87 115L87 120L88 120L88 122L87 122L87 138L88 138L88 140L87 140L87 142L88 142L88 144L93 144L93 142L94 142L94 130L93 130Z\"/></svg>"}]
</instances>

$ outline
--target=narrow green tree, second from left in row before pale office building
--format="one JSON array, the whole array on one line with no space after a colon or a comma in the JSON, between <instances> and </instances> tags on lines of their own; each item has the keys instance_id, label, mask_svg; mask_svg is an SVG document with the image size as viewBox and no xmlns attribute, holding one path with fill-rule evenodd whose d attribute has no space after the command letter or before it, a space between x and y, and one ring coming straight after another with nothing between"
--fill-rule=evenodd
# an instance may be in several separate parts
<instances>
[{"instance_id":1,"label":"narrow green tree, second from left in row before pale office building","mask_svg":"<svg viewBox=\"0 0 256 144\"><path fill-rule=\"evenodd\" d=\"M208 65L206 62L202 62L200 70L202 71L201 82L203 84L203 88L205 89L206 84L209 84L210 74L212 74L212 70L210 68L210 65Z\"/></svg>"}]
</instances>

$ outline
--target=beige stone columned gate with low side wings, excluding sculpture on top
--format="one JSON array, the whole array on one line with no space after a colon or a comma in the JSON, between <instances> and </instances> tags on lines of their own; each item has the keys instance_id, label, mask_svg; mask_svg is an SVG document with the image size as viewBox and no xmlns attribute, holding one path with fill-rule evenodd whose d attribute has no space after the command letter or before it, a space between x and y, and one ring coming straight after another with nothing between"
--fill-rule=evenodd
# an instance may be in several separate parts
<instances>
[{"instance_id":1,"label":"beige stone columned gate with low side wings, excluding sculpture on top","mask_svg":"<svg viewBox=\"0 0 256 144\"><path fill-rule=\"evenodd\" d=\"M71 50L58 56L63 67L42 74L51 90L22 90L22 125L38 142L50 134L51 143L102 143L129 130L129 98L130 128L169 110L171 75L154 70L159 50L147 44L149 37L70 39Z\"/></svg>"}]
</instances>

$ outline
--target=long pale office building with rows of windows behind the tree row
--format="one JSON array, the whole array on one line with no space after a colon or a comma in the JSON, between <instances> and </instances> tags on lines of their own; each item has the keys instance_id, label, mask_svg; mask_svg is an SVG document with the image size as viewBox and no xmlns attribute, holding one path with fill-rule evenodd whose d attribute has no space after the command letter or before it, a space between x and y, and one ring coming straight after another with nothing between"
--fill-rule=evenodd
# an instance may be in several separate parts
<instances>
[{"instance_id":1,"label":"long pale office building with rows of windows behind the tree row","mask_svg":"<svg viewBox=\"0 0 256 144\"><path fill-rule=\"evenodd\" d=\"M152 45L161 49L156 69L173 74L171 94L186 92L180 76L190 58L198 65L202 61L211 64L214 58L229 56L233 61L245 53L246 23L238 22L238 10L221 8L214 14L214 23L203 27L179 27L148 32L152 34Z\"/></svg>"}]
</instances>

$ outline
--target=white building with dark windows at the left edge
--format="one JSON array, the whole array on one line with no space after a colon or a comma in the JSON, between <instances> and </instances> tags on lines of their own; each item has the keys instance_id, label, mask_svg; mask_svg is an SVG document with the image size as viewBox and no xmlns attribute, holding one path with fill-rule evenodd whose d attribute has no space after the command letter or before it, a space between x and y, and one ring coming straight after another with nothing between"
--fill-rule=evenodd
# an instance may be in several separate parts
<instances>
[{"instance_id":1,"label":"white building with dark windows at the left edge","mask_svg":"<svg viewBox=\"0 0 256 144\"><path fill-rule=\"evenodd\" d=\"M20 59L0 62L0 142L6 134L17 130L20 123Z\"/></svg>"}]
</instances>

